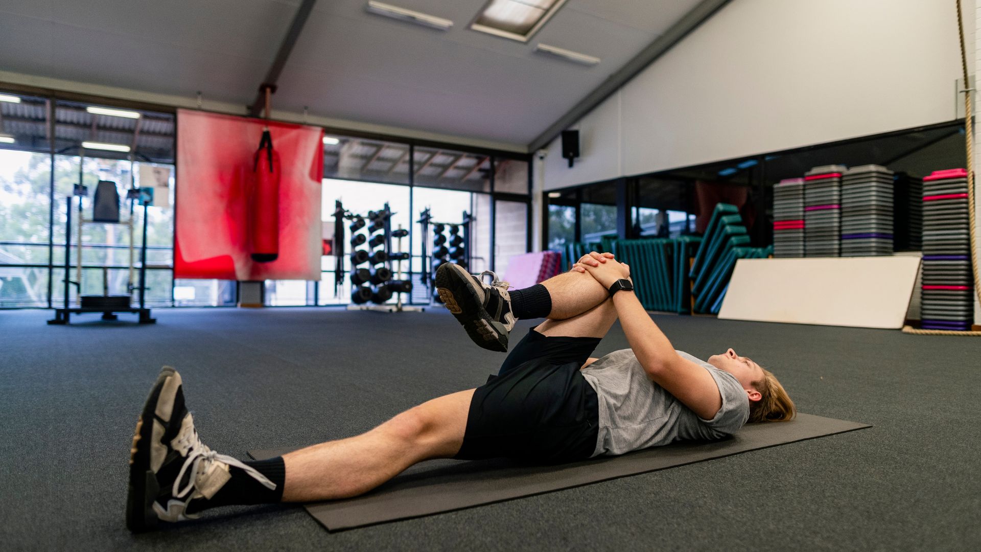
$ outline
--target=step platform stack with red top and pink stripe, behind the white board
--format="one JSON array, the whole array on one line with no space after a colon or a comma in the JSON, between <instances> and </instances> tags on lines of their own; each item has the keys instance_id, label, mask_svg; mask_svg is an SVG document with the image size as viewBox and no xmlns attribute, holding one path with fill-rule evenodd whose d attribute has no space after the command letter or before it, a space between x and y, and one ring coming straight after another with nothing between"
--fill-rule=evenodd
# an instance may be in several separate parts
<instances>
[{"instance_id":1,"label":"step platform stack with red top and pink stripe, behind the white board","mask_svg":"<svg viewBox=\"0 0 981 552\"><path fill-rule=\"evenodd\" d=\"M839 256L842 237L844 165L823 165L804 173L804 256Z\"/></svg>"}]
</instances>

